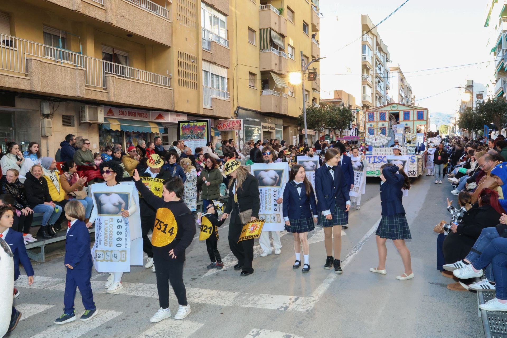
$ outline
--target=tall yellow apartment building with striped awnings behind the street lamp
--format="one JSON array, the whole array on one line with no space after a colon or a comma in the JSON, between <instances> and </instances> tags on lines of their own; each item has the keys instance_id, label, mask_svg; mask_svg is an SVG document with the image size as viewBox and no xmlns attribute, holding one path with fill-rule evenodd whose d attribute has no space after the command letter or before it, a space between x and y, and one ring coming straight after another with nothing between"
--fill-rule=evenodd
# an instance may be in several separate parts
<instances>
[{"instance_id":1,"label":"tall yellow apartment building with striped awnings behind the street lamp","mask_svg":"<svg viewBox=\"0 0 507 338\"><path fill-rule=\"evenodd\" d=\"M231 2L231 100L243 120L240 145L249 139L303 140L297 117L303 98L305 105L319 103L318 62L309 66L316 81L304 81L304 91L289 83L288 74L301 72L301 57L305 64L320 57L320 16L317 0ZM310 142L314 134L308 133Z\"/></svg>"}]
</instances>

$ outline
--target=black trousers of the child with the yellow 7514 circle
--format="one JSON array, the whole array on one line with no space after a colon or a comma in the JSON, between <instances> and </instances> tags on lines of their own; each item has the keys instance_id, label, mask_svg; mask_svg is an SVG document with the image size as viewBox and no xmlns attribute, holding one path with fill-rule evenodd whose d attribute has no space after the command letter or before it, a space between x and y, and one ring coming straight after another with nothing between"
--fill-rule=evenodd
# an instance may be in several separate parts
<instances>
[{"instance_id":1,"label":"black trousers of the child with the yellow 7514 circle","mask_svg":"<svg viewBox=\"0 0 507 338\"><path fill-rule=\"evenodd\" d=\"M159 293L159 305L162 309L169 307L169 282L179 305L187 306L187 290L183 283L183 259L166 260L156 255L153 257L155 274L157 275L157 290Z\"/></svg>"}]
</instances>

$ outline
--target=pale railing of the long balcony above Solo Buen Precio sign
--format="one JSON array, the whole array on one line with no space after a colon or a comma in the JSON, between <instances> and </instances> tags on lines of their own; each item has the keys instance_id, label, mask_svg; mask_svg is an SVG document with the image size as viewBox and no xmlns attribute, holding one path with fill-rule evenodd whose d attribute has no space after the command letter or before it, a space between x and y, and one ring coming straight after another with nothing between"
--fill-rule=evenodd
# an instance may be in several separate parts
<instances>
[{"instance_id":1,"label":"pale railing of the long balcony above Solo Buen Precio sign","mask_svg":"<svg viewBox=\"0 0 507 338\"><path fill-rule=\"evenodd\" d=\"M113 74L135 81L170 87L170 78L160 74L0 34L0 69L26 74L27 56L84 68L85 85L88 86L105 88L105 75Z\"/></svg>"}]
</instances>

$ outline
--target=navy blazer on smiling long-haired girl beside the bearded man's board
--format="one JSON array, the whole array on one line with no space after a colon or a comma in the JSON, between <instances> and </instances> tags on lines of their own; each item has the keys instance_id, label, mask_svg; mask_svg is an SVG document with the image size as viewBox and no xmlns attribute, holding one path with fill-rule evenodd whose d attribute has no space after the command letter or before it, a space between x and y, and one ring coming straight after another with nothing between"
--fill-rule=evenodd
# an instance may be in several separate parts
<instances>
[{"instance_id":1,"label":"navy blazer on smiling long-haired girl beside the bearded man's board","mask_svg":"<svg viewBox=\"0 0 507 338\"><path fill-rule=\"evenodd\" d=\"M307 218L312 216L312 211L315 216L318 215L317 204L315 203L315 194L313 191L310 193L310 197L306 196L305 186L303 183L301 194L298 194L298 188L292 182L293 181L288 182L285 185L285 190L283 191L283 217L289 217L292 219Z\"/></svg>"}]
</instances>

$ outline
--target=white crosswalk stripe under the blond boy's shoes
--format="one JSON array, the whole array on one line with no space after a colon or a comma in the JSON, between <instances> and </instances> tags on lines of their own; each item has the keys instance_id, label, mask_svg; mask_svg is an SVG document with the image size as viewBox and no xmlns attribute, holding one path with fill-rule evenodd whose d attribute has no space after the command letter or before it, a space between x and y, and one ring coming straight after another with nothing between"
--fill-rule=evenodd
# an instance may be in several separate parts
<instances>
[{"instance_id":1,"label":"white crosswalk stripe under the blond boy's shoes","mask_svg":"<svg viewBox=\"0 0 507 338\"><path fill-rule=\"evenodd\" d=\"M53 324L47 330L32 335L31 338L78 338L121 314L122 312L118 311L98 309L98 314L90 321L82 322L78 318L77 320L65 325Z\"/></svg>"}]
</instances>

